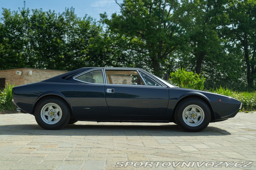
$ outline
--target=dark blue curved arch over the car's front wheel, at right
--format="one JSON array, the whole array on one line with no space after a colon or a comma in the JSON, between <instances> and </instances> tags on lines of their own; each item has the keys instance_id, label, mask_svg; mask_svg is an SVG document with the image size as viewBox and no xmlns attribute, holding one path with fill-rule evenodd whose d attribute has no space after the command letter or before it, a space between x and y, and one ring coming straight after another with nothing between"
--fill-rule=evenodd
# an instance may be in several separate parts
<instances>
[{"instance_id":1,"label":"dark blue curved arch over the car's front wheel, at right","mask_svg":"<svg viewBox=\"0 0 256 170\"><path fill-rule=\"evenodd\" d=\"M209 107L210 109L210 112L211 112L211 121L215 119L215 115L214 115L214 112L213 112L213 107L212 107L212 104L210 104L210 100L203 94L199 93L199 92L188 92L187 94L184 94L182 95L176 102L175 104L175 107L172 111L172 116L171 116L171 122L174 122L175 121L175 112L176 112L176 109L177 109L177 106L178 104L180 104L182 101L188 99L188 98L198 98L200 100L202 100L203 102L205 102L207 104L207 106Z\"/></svg>"}]
</instances>

